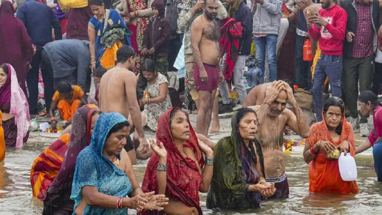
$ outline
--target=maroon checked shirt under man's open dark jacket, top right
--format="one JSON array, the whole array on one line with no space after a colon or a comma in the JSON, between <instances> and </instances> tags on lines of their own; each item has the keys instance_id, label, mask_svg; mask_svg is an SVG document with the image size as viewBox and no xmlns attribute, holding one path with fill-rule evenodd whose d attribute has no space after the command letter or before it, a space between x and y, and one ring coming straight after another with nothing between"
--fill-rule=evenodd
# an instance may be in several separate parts
<instances>
[{"instance_id":1,"label":"maroon checked shirt under man's open dark jacket, top right","mask_svg":"<svg viewBox=\"0 0 382 215\"><path fill-rule=\"evenodd\" d=\"M351 57L364 58L374 54L373 50L373 21L371 19L370 5L363 5L356 2L357 7L357 27L354 36L353 50Z\"/></svg>"}]
</instances>

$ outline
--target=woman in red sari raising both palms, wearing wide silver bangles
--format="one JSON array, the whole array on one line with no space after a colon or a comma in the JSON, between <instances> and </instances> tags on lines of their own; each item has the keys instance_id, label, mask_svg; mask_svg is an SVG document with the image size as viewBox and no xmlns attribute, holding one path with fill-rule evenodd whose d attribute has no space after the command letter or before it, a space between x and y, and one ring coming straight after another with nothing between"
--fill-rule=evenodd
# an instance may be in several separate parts
<instances>
[{"instance_id":1,"label":"woman in red sari raising both palms, wearing wide silver bangles","mask_svg":"<svg viewBox=\"0 0 382 215\"><path fill-rule=\"evenodd\" d=\"M208 192L210 186L212 149L198 140L188 117L179 108L171 108L159 117L158 145L153 140L150 143L155 153L147 163L142 191L155 191L169 198L161 214L202 214L199 191ZM157 213L144 211L144 214Z\"/></svg>"}]
</instances>

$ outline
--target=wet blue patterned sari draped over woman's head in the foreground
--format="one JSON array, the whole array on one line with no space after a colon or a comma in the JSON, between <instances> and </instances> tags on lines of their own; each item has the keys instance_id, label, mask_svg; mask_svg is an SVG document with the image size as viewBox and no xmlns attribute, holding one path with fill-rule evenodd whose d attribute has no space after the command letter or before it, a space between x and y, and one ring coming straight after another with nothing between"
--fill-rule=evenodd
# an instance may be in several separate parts
<instances>
[{"instance_id":1,"label":"wet blue patterned sari draped over woman's head in the foreground","mask_svg":"<svg viewBox=\"0 0 382 215\"><path fill-rule=\"evenodd\" d=\"M126 197L133 190L126 173L102 154L110 129L125 121L126 118L117 113L104 113L97 119L90 145L79 153L76 161L70 196L74 200L73 215L82 200L81 189L84 186L95 186L99 192L115 197ZM118 159L121 159L120 155ZM86 205L83 215L88 214L127 214L127 209L103 209Z\"/></svg>"}]
</instances>

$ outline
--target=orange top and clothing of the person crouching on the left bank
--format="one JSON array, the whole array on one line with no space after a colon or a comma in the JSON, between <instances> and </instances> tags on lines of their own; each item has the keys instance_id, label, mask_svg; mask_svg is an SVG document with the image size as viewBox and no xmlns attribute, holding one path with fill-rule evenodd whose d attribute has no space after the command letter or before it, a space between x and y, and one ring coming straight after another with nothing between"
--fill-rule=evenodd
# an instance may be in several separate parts
<instances>
[{"instance_id":1,"label":"orange top and clothing of the person crouching on the left bank","mask_svg":"<svg viewBox=\"0 0 382 215\"><path fill-rule=\"evenodd\" d=\"M84 91L79 86L72 86L73 96L70 101L66 101L60 96L60 93L56 91L53 95L52 100L57 102L57 109L60 111L61 117L70 121L73 117L74 112L78 109L79 104L81 104L81 97L85 94Z\"/></svg>"}]
</instances>

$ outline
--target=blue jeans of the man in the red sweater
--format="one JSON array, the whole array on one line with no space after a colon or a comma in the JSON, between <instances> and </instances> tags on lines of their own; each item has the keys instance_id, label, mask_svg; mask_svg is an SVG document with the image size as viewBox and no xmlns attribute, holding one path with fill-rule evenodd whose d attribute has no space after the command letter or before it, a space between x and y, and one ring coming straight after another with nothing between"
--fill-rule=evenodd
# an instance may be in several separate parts
<instances>
[{"instance_id":1,"label":"blue jeans of the man in the red sweater","mask_svg":"<svg viewBox=\"0 0 382 215\"><path fill-rule=\"evenodd\" d=\"M325 78L329 78L330 88L332 89L332 96L342 96L342 56L325 55L321 54L317 60L316 68L314 68L313 77L313 103L316 110L317 122L322 121L322 85L324 85Z\"/></svg>"}]
</instances>

